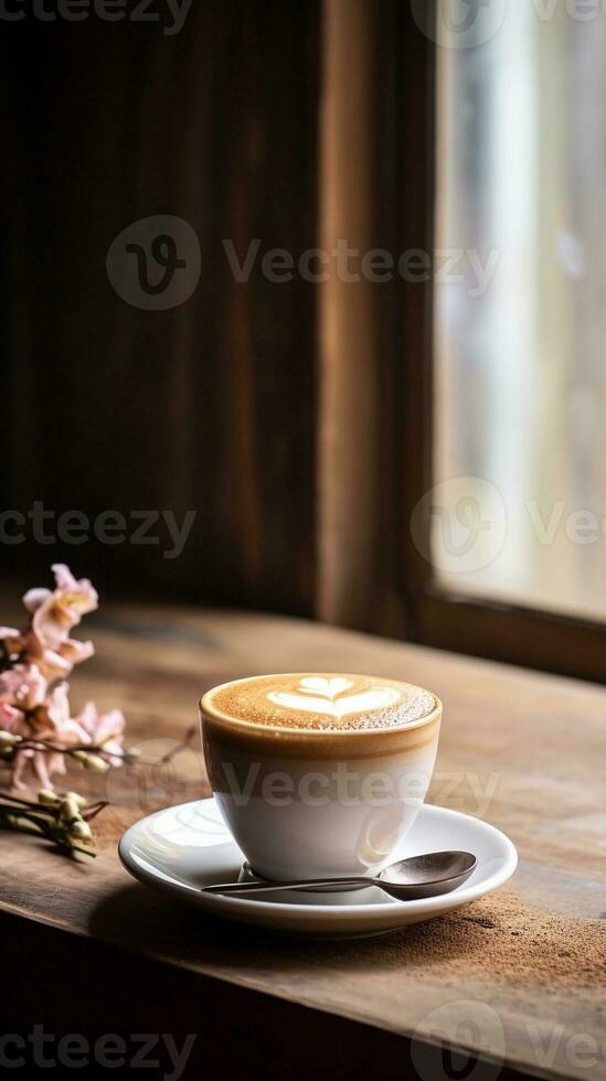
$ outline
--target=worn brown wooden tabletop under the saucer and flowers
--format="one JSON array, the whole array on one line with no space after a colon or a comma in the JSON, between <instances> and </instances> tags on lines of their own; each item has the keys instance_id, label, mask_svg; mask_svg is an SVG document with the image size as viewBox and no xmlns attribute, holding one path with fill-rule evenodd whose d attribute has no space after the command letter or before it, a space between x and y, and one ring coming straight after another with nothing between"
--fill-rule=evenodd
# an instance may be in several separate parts
<instances>
[{"instance_id":1,"label":"worn brown wooden tabletop under the saucer and flowers","mask_svg":"<svg viewBox=\"0 0 606 1081\"><path fill-rule=\"evenodd\" d=\"M31 1015L36 978L49 986L75 965L70 978L82 986L87 964L96 966L99 988L104 980L111 986L107 957L114 974L128 957L141 995L156 986L148 966L161 965L160 985L171 988L173 1007L181 997L184 1016L185 1000L194 1003L192 1016L209 1039L219 1009L234 1032L243 1017L256 1019L258 1050L265 1004L267 1025L279 1018L280 1047L291 1030L295 1048L296 1034L300 1041L316 1019L322 1040L333 1034L376 1048L376 1062L381 1041L393 1057L400 1040L406 1055L412 1048L422 1081L450 1075L435 1070L440 1042L478 1057L475 1069L483 1072L474 1077L497 1077L504 1063L506 1072L606 1078L606 688L238 612L106 607L88 620L87 633L97 654L74 672L72 698L123 708L127 745L139 747L146 761L183 740L201 693L240 675L360 671L430 687L444 703L430 801L502 828L518 846L520 866L495 895L390 936L272 939L172 905L134 882L118 861L117 839L136 818L209 794L198 740L166 767L125 767L105 777L74 770L68 786L111 801L97 818L95 860L0 835L0 911L11 932L4 959L15 973L28 959L30 974L29 997L15 993L15 1024L25 1024L28 1003ZM120 985L126 980L120 975ZM110 1007L106 1002L107 1017ZM77 1016L72 1009L65 1005L65 1024ZM317 1075L331 1074L326 1067Z\"/></svg>"}]
</instances>

